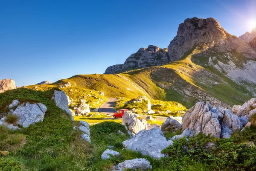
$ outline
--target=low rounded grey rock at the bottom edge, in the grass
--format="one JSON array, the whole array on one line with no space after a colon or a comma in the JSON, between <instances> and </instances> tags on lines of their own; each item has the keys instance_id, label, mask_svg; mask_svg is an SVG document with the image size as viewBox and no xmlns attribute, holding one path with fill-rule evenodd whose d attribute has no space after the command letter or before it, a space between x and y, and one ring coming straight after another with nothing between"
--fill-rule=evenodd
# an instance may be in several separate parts
<instances>
[{"instance_id":1,"label":"low rounded grey rock at the bottom edge, in the grass","mask_svg":"<svg viewBox=\"0 0 256 171\"><path fill-rule=\"evenodd\" d=\"M132 159L132 160L125 160L124 162L119 163L116 165L116 171L123 171L123 170L141 170L147 171L148 169L151 170L152 166L150 162L146 159Z\"/></svg>"}]
</instances>

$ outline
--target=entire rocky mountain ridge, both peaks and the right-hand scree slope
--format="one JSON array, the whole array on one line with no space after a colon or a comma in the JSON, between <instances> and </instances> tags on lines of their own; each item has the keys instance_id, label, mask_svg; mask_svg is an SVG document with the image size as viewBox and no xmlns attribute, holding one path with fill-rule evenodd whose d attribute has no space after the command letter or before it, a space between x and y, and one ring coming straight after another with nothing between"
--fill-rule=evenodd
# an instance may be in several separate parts
<instances>
[{"instance_id":1,"label":"entire rocky mountain ridge, both peaks and the right-hand scree slope","mask_svg":"<svg viewBox=\"0 0 256 171\"><path fill-rule=\"evenodd\" d=\"M108 67L105 73L120 73L181 60L186 61L183 64L192 62L193 66L199 65L212 72L211 75L223 75L246 87L251 94L256 93L256 40L250 43L242 41L226 32L213 18L186 19L170 42L167 55L163 54L158 60L152 60L148 53L143 54L143 65L138 65L141 56L135 60L133 54L125 64ZM154 61L157 62L152 63Z\"/></svg>"}]
</instances>

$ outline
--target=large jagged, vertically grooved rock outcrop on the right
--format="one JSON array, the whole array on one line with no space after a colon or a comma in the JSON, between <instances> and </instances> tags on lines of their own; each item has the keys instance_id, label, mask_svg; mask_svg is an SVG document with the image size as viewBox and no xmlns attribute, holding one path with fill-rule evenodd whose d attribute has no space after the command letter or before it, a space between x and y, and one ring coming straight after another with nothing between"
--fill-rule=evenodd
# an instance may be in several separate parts
<instances>
[{"instance_id":1,"label":"large jagged, vertically grooved rock outcrop on the right","mask_svg":"<svg viewBox=\"0 0 256 171\"><path fill-rule=\"evenodd\" d=\"M204 133L229 138L234 132L243 129L241 120L231 110L214 109L209 102L198 102L183 115L182 130L191 130L195 135Z\"/></svg>"}]
</instances>

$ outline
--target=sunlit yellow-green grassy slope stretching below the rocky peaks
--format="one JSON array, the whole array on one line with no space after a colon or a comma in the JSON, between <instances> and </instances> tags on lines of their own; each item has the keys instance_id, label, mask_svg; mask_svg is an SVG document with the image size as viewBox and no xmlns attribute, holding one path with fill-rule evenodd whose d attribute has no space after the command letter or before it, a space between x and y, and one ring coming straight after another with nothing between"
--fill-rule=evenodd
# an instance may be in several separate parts
<instances>
[{"instance_id":1,"label":"sunlit yellow-green grassy slope stretching below the rocky peaks","mask_svg":"<svg viewBox=\"0 0 256 171\"><path fill-rule=\"evenodd\" d=\"M207 58L200 60L198 59L200 64L207 63ZM186 108L198 101L210 101L214 106L230 108L234 104L243 104L252 97L246 88L223 73L207 65L201 67L193 63L191 55L161 67L148 67L121 74L75 75L57 81L55 85L67 81L74 87L102 91L108 97L133 99L147 96L149 99L177 101Z\"/></svg>"}]
</instances>

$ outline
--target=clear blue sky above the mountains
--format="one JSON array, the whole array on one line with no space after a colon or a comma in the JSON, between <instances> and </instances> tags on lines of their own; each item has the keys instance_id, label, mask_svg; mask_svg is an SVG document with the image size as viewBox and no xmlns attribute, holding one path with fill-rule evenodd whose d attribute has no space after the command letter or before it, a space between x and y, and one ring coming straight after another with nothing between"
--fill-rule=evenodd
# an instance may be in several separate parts
<instances>
[{"instance_id":1,"label":"clear blue sky above the mountains","mask_svg":"<svg viewBox=\"0 0 256 171\"><path fill-rule=\"evenodd\" d=\"M140 47L167 47L186 18L213 17L240 36L255 9L253 0L0 0L0 79L103 73Z\"/></svg>"}]
</instances>

